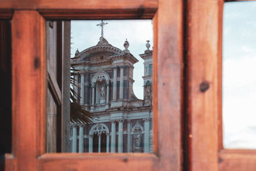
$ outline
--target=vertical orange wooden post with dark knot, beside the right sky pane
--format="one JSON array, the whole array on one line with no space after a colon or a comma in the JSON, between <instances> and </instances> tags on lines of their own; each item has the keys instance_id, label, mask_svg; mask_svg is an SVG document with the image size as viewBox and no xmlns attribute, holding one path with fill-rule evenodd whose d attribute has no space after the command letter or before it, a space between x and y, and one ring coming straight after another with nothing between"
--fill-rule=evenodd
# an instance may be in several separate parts
<instances>
[{"instance_id":1,"label":"vertical orange wooden post with dark knot, beside the right sky pane","mask_svg":"<svg viewBox=\"0 0 256 171\"><path fill-rule=\"evenodd\" d=\"M189 170L218 170L218 112L223 1L188 1Z\"/></svg>"}]
</instances>

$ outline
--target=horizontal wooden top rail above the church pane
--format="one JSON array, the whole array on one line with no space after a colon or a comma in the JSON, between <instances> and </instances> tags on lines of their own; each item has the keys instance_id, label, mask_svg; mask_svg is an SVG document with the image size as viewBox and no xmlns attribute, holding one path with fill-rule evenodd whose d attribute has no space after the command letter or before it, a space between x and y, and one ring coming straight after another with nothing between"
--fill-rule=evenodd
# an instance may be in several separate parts
<instances>
[{"instance_id":1,"label":"horizontal wooden top rail above the church pane","mask_svg":"<svg viewBox=\"0 0 256 171\"><path fill-rule=\"evenodd\" d=\"M40 10L45 17L55 19L148 19L157 10L157 0L0 0L0 8Z\"/></svg>"}]
</instances>

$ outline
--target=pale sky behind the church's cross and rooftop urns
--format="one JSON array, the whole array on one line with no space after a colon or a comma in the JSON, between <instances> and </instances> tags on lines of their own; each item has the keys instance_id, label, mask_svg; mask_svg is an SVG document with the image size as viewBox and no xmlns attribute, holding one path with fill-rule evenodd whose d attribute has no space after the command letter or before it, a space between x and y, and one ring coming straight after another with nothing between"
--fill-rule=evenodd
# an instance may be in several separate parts
<instances>
[{"instance_id":1,"label":"pale sky behind the church's cross and rooftop urns","mask_svg":"<svg viewBox=\"0 0 256 171\"><path fill-rule=\"evenodd\" d=\"M133 91L137 98L143 99L143 54L147 40L150 40L150 50L153 47L152 20L104 20L108 22L104 26L104 38L114 47L124 50L124 41L129 41L130 53L139 60L134 64ZM71 21L71 57L74 57L76 49L79 52L88 47L97 45L101 36L101 27L96 26L100 20L72 20Z\"/></svg>"}]
</instances>

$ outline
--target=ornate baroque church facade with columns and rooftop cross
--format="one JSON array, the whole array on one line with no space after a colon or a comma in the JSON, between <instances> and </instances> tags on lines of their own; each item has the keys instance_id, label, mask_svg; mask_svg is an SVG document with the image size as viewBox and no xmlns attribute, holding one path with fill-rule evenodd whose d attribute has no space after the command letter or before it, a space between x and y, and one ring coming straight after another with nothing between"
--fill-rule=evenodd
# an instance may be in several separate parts
<instances>
[{"instance_id":1,"label":"ornate baroque church facade with columns and rooftop cross","mask_svg":"<svg viewBox=\"0 0 256 171\"><path fill-rule=\"evenodd\" d=\"M152 50L147 41L143 100L133 93L134 64L129 51L114 47L101 36L97 45L76 50L72 67L77 71L74 90L79 103L95 115L93 124L70 123L70 152L152 152Z\"/></svg>"}]
</instances>

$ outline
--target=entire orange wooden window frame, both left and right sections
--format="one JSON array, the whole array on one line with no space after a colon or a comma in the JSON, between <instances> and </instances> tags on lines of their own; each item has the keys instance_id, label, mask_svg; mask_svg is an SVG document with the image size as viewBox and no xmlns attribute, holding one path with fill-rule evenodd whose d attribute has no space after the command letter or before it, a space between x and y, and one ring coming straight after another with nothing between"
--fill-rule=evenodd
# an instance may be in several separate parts
<instances>
[{"instance_id":1,"label":"entire orange wooden window frame, both left and right sections","mask_svg":"<svg viewBox=\"0 0 256 171\"><path fill-rule=\"evenodd\" d=\"M6 170L255 169L255 150L222 145L223 3L1 0L0 19L12 19L13 142ZM153 19L153 154L45 154L45 19Z\"/></svg>"}]
</instances>

